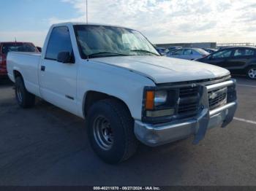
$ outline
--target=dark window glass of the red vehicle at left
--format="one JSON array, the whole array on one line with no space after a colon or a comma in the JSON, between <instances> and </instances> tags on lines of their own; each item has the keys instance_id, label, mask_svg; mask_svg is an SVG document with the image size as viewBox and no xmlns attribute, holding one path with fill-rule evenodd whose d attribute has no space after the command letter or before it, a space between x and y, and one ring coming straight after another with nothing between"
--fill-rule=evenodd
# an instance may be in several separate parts
<instances>
[{"instance_id":1,"label":"dark window glass of the red vehicle at left","mask_svg":"<svg viewBox=\"0 0 256 191\"><path fill-rule=\"evenodd\" d=\"M37 48L31 43L7 43L4 44L1 53L7 55L8 52L37 52Z\"/></svg>"}]
</instances>

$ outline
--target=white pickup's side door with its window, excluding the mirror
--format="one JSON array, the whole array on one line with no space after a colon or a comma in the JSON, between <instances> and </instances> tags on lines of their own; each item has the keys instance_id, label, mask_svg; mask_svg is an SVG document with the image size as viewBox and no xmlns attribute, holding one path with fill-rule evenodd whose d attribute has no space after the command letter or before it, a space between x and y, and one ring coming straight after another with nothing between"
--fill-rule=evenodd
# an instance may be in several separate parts
<instances>
[{"instance_id":1,"label":"white pickup's side door with its window, excluding the mirror","mask_svg":"<svg viewBox=\"0 0 256 191\"><path fill-rule=\"evenodd\" d=\"M77 113L76 89L78 63L57 61L60 52L73 55L72 41L67 26L53 28L45 55L39 66L40 91L42 98L73 114Z\"/></svg>"}]
</instances>

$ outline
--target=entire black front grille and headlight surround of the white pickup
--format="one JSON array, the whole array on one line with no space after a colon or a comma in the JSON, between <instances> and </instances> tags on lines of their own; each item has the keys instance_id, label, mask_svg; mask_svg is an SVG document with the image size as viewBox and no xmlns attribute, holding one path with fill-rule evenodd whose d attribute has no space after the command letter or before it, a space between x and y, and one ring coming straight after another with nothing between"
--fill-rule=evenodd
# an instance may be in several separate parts
<instances>
[{"instance_id":1,"label":"entire black front grille and headlight surround of the white pickup","mask_svg":"<svg viewBox=\"0 0 256 191\"><path fill-rule=\"evenodd\" d=\"M197 117L198 114L202 114L203 110L205 112L208 109L212 111L231 101L236 101L236 84L232 80L225 82L225 79L217 79L217 81L209 81L207 83L193 83L193 81L182 82L182 84L159 85L156 90L167 90L168 96L167 104L157 106L156 109L173 109L174 114L162 117L148 117L146 115L147 110L143 109L143 122L157 124L191 119ZM208 112L211 114L210 111Z\"/></svg>"}]
</instances>

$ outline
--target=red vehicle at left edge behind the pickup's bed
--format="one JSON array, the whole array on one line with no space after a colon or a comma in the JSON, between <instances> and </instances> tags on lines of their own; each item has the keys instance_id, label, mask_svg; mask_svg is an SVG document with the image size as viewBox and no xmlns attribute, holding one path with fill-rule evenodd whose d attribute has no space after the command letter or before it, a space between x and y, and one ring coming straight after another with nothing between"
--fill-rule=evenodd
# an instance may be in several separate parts
<instances>
[{"instance_id":1,"label":"red vehicle at left edge behind the pickup's bed","mask_svg":"<svg viewBox=\"0 0 256 191\"><path fill-rule=\"evenodd\" d=\"M7 77L8 52L39 52L30 42L0 42L0 78Z\"/></svg>"}]
</instances>

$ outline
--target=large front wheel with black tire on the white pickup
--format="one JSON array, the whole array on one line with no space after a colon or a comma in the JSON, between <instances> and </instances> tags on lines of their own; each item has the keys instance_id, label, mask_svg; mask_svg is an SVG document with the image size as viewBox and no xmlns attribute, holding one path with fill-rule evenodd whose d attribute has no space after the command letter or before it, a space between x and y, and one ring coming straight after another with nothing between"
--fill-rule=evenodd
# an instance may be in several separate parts
<instances>
[{"instance_id":1,"label":"large front wheel with black tire on the white pickup","mask_svg":"<svg viewBox=\"0 0 256 191\"><path fill-rule=\"evenodd\" d=\"M138 147L138 140L135 138L134 120L127 107L121 101L115 99L98 101L91 106L86 118L91 147L105 163L121 163L135 154ZM102 118L108 121L105 123L110 127L109 130L105 130L111 134L109 136L112 139L111 141L110 139L107 142L105 141L108 147L99 140L99 137L102 138L104 136L103 134L107 134L103 132L104 130L97 130L98 126L103 126L99 122ZM95 133L98 131L99 133Z\"/></svg>"}]
</instances>

